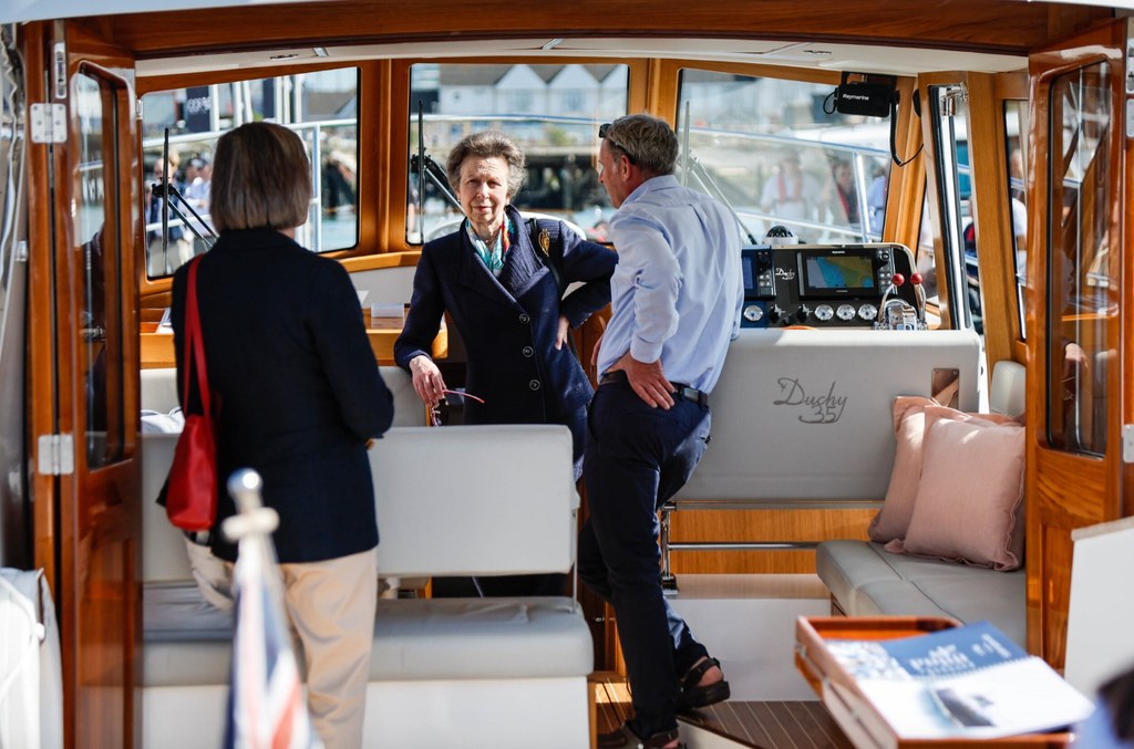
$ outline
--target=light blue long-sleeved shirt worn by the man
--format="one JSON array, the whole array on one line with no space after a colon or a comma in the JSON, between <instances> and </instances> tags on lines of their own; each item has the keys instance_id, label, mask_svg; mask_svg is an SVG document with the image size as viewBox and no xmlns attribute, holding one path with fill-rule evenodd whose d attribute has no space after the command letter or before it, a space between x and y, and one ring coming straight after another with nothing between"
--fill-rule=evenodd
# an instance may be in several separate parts
<instances>
[{"instance_id":1,"label":"light blue long-sleeved shirt worn by the man","mask_svg":"<svg viewBox=\"0 0 1134 749\"><path fill-rule=\"evenodd\" d=\"M671 175L646 180L610 222L618 265L599 372L626 351L705 392L741 330L741 230L728 210Z\"/></svg>"}]
</instances>

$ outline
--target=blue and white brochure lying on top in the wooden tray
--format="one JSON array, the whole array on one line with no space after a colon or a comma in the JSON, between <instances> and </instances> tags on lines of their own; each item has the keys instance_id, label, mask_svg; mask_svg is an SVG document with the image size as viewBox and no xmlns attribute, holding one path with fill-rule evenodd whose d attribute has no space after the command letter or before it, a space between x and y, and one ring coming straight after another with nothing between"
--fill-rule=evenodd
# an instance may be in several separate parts
<instances>
[{"instance_id":1,"label":"blue and white brochure lying on top in the wooden tray","mask_svg":"<svg viewBox=\"0 0 1134 749\"><path fill-rule=\"evenodd\" d=\"M903 739L996 739L1072 726L1094 706L989 622L896 640L827 640Z\"/></svg>"}]
</instances>

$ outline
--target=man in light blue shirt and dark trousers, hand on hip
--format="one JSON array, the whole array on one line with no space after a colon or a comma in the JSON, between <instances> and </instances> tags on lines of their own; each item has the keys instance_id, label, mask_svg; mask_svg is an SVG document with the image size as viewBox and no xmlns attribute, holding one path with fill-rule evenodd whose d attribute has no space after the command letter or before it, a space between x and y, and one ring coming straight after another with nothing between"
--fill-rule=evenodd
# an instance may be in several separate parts
<instances>
[{"instance_id":1,"label":"man in light blue shirt and dark trousers, hand on hip","mask_svg":"<svg viewBox=\"0 0 1134 749\"><path fill-rule=\"evenodd\" d=\"M599 137L619 259L594 355L578 564L615 607L635 712L599 747L671 749L677 710L729 697L720 664L662 594L657 513L709 443L708 393L741 325L741 232L725 206L674 178L677 136L663 120L621 117Z\"/></svg>"}]
</instances>

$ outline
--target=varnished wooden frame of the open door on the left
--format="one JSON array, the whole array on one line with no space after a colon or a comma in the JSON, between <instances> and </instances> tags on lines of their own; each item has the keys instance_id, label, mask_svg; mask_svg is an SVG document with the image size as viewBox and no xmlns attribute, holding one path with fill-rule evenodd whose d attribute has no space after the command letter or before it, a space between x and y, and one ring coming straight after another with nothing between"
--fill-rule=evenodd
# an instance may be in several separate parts
<instances>
[{"instance_id":1,"label":"varnished wooden frame of the open door on the left","mask_svg":"<svg viewBox=\"0 0 1134 749\"><path fill-rule=\"evenodd\" d=\"M134 60L73 23L24 29L28 102L62 105L66 141L28 138L28 454L33 456L35 564L50 580L59 623L66 747L134 747L141 737L142 610L139 587L141 463L137 286L134 248L142 238L135 205ZM66 51L65 79L56 54ZM104 182L116 218L120 261L105 279L120 305L117 343L121 388L113 394L120 460L91 469L84 448L86 380L82 371L85 255L71 205L79 189L79 122L73 86L81 65L115 82L118 113L104 141L115 144L113 184ZM59 84L59 85L57 85ZM111 127L110 122L105 124ZM103 248L105 249L105 248ZM120 300L120 301L119 301ZM41 437L61 435L60 463L49 469ZM69 443L66 439L69 437Z\"/></svg>"}]
</instances>

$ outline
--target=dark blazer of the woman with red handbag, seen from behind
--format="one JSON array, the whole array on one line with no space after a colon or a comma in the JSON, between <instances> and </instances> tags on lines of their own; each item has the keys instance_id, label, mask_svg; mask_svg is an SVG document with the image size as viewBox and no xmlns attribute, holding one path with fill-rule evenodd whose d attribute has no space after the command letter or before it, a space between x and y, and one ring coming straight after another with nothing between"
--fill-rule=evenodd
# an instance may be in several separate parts
<instances>
[{"instance_id":1,"label":"dark blazer of the woman with red handbag, seen from behind","mask_svg":"<svg viewBox=\"0 0 1134 749\"><path fill-rule=\"evenodd\" d=\"M174 275L178 390L186 278L187 266ZM393 397L346 270L278 231L226 231L201 259L197 305L209 386L220 399L218 525L235 513L228 476L254 468L264 504L280 514L280 562L373 548L366 441L389 428ZM200 412L192 392L188 409ZM214 553L235 560L236 547L221 535L212 534Z\"/></svg>"}]
</instances>

